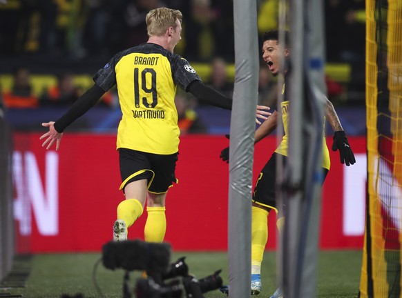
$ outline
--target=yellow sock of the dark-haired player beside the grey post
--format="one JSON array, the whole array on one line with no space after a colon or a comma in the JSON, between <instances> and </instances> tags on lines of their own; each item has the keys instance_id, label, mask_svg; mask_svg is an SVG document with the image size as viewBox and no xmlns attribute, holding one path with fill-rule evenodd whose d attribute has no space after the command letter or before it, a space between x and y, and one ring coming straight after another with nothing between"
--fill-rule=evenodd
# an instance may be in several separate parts
<instances>
[{"instance_id":1,"label":"yellow sock of the dark-haired player beside the grey post","mask_svg":"<svg viewBox=\"0 0 402 298\"><path fill-rule=\"evenodd\" d=\"M251 207L251 274L260 274L268 240L268 211Z\"/></svg>"}]
</instances>

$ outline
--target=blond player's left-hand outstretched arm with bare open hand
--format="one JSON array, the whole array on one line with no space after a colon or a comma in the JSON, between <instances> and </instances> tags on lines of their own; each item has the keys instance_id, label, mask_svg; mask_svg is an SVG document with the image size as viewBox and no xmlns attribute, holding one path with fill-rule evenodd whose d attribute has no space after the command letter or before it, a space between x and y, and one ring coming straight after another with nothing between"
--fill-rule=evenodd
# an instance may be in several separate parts
<instances>
[{"instance_id":1,"label":"blond player's left-hand outstretched arm with bare open hand","mask_svg":"<svg viewBox=\"0 0 402 298\"><path fill-rule=\"evenodd\" d=\"M56 141L56 150L59 150L64 129L95 106L95 103L104 95L104 92L102 88L94 84L92 88L75 101L73 106L59 120L42 123L42 126L49 128L49 131L39 138L45 139L42 147L46 146L46 149L49 149Z\"/></svg>"}]
</instances>

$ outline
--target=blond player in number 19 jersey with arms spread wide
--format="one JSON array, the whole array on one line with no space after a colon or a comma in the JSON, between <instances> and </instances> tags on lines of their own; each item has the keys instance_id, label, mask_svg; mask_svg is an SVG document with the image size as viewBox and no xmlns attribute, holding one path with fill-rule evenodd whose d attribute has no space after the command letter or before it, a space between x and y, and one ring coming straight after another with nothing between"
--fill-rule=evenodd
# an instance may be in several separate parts
<instances>
[{"instance_id":1,"label":"blond player in number 19 jersey with arms spread wide","mask_svg":"<svg viewBox=\"0 0 402 298\"><path fill-rule=\"evenodd\" d=\"M127 229L142 215L148 217L145 241L162 242L166 232L165 200L176 182L180 129L175 108L177 86L200 101L231 109L232 101L202 83L186 59L173 52L181 39L182 12L156 8L146 14L149 40L115 54L93 77L94 85L60 119L42 123L48 132L43 146L56 150L64 130L97 103L104 92L117 86L122 119L117 130L117 150L125 199L117 206L113 239L127 239ZM267 107L256 115L266 119Z\"/></svg>"}]
</instances>

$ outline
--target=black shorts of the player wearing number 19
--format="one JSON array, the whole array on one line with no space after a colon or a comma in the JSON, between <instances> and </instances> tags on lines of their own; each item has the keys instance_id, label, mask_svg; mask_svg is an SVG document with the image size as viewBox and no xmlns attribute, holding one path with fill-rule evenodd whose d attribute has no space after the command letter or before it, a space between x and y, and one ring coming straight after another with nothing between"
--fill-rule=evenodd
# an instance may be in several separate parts
<instances>
[{"instance_id":1,"label":"black shorts of the player wearing number 19","mask_svg":"<svg viewBox=\"0 0 402 298\"><path fill-rule=\"evenodd\" d=\"M148 190L153 193L167 192L175 177L176 161L179 153L157 155L137 150L119 148L120 175L124 190L127 183L147 179Z\"/></svg>"}]
</instances>

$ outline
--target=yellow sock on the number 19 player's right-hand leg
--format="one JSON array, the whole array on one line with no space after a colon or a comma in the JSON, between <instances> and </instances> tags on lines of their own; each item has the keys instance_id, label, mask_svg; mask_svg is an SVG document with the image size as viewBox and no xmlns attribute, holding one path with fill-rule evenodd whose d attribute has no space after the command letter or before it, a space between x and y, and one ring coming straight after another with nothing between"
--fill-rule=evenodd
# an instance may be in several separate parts
<instances>
[{"instance_id":1,"label":"yellow sock on the number 19 player's right-hand leg","mask_svg":"<svg viewBox=\"0 0 402 298\"><path fill-rule=\"evenodd\" d=\"M166 233L166 207L146 207L148 218L144 228L144 239L147 242L163 242Z\"/></svg>"}]
</instances>

